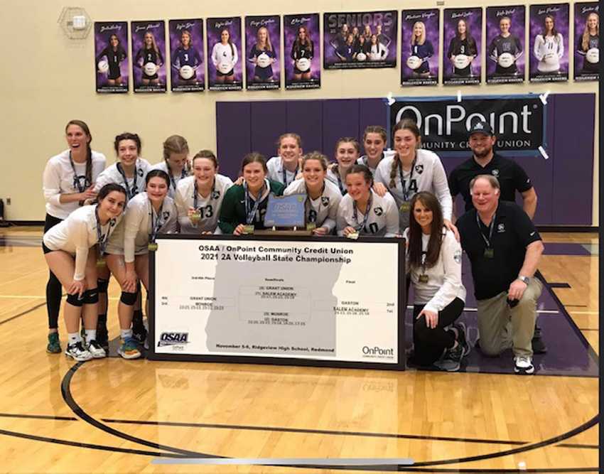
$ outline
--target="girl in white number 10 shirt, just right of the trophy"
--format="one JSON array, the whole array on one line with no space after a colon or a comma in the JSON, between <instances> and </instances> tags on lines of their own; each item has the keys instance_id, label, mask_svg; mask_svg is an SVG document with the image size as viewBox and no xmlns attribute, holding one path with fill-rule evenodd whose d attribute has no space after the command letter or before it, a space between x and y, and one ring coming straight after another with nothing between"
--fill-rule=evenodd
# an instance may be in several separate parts
<instances>
[{"instance_id":1,"label":"girl in white number 10 shirt, just right of the trophy","mask_svg":"<svg viewBox=\"0 0 604 474\"><path fill-rule=\"evenodd\" d=\"M365 165L352 165L346 175L348 193L338 207L338 235L395 237L399 212L391 195L372 190L373 176Z\"/></svg>"}]
</instances>

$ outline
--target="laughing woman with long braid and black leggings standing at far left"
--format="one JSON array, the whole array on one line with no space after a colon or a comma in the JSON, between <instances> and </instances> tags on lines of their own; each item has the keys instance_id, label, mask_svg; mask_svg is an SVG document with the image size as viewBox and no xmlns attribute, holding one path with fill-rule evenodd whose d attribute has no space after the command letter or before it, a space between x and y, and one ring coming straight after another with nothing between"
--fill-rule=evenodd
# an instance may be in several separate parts
<instances>
[{"instance_id":1,"label":"laughing woman with long braid and black leggings standing at far left","mask_svg":"<svg viewBox=\"0 0 604 474\"><path fill-rule=\"evenodd\" d=\"M69 148L46 163L43 190L46 200L44 232L57 225L87 199L95 199L95 181L105 168L105 156L90 149L92 135L85 122L70 120L65 126L65 139ZM61 284L50 271L46 284L46 310L48 312L48 345L46 351L61 352L58 318L61 306Z\"/></svg>"}]
</instances>

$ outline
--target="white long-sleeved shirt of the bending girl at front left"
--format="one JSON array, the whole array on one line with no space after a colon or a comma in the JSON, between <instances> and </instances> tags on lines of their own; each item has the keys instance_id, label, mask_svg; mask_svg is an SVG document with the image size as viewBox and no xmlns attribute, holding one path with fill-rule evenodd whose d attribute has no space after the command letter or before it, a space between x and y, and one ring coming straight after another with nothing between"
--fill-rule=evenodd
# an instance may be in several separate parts
<instances>
[{"instance_id":1,"label":"white long-sleeved shirt of the bending girl at front left","mask_svg":"<svg viewBox=\"0 0 604 474\"><path fill-rule=\"evenodd\" d=\"M99 242L95 205L85 205L73 211L63 222L51 227L42 240L50 250L64 250L75 256L74 280L85 278L88 250ZM122 215L101 226L101 239L106 241L118 227Z\"/></svg>"}]
</instances>

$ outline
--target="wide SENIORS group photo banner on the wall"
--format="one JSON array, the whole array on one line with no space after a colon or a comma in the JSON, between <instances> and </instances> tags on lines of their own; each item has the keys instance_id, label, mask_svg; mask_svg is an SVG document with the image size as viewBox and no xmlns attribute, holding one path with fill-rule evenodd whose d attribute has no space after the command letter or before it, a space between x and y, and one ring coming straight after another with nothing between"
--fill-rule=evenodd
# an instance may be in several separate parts
<instances>
[{"instance_id":1,"label":"wide SENIORS group photo banner on the wall","mask_svg":"<svg viewBox=\"0 0 604 474\"><path fill-rule=\"evenodd\" d=\"M323 67L397 67L396 10L323 14Z\"/></svg>"}]
</instances>

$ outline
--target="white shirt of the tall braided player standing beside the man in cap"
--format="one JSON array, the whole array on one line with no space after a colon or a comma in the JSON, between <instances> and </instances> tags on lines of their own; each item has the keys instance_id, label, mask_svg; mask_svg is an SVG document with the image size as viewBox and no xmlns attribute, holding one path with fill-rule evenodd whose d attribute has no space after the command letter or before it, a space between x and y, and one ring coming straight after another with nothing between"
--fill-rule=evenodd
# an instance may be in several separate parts
<instances>
[{"instance_id":1,"label":"white shirt of the tall braided player standing beside the man in cap","mask_svg":"<svg viewBox=\"0 0 604 474\"><path fill-rule=\"evenodd\" d=\"M394 188L390 188L390 171L392 170L392 163L398 159L396 155L384 158L379 162L377 170L374 173L374 180L377 183L382 183L388 188L390 194L397 203L397 207L400 209L401 204L404 203L404 193L401 186L401 175L397 168L397 176L394 178ZM412 175L412 176L411 176ZM451 214L453 213L453 199L451 199L451 192L449 191L449 185L447 183L447 175L441 158L438 158L436 153L428 150L419 149L416 151L416 163L411 171L403 171L403 179L405 181L406 189L408 190L407 198L411 200L414 194L420 191L428 191L436 195L438 201L441 203L443 208L443 218L451 220ZM406 227L409 227L409 212L400 212L400 225L401 233Z\"/></svg>"}]
</instances>

